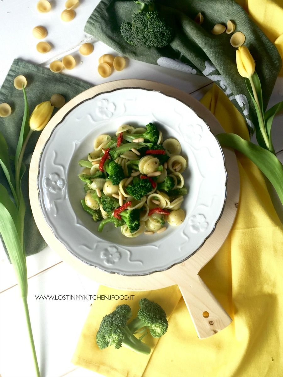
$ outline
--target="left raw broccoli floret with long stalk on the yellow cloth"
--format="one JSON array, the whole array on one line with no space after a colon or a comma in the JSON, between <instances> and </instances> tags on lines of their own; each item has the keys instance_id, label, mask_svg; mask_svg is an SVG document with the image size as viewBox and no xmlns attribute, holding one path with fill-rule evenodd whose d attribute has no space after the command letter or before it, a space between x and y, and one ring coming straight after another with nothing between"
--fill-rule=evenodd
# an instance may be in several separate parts
<instances>
[{"instance_id":1,"label":"left raw broccoli floret with long stalk on the yellow cloth","mask_svg":"<svg viewBox=\"0 0 283 377\"><path fill-rule=\"evenodd\" d=\"M119 349L125 346L132 351L148 355L150 347L137 339L126 325L130 317L131 308L125 304L118 305L112 313L103 317L96 334L98 347L104 349L114 346Z\"/></svg>"}]
</instances>

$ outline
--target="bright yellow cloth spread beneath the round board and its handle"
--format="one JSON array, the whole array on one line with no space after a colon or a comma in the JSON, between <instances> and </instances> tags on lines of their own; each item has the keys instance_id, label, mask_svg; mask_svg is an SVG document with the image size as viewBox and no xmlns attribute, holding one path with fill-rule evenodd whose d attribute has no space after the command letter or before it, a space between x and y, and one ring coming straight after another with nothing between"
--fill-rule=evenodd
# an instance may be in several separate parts
<instances>
[{"instance_id":1,"label":"bright yellow cloth spread beneath the round board and its handle","mask_svg":"<svg viewBox=\"0 0 283 377\"><path fill-rule=\"evenodd\" d=\"M248 138L245 121L214 86L202 99L226 132ZM133 301L96 301L77 349L75 365L109 377L281 377L283 375L283 232L263 176L237 154L241 198L225 244L203 268L201 277L232 317L220 333L204 340L195 328L177 286L148 292L100 287L98 294L134 294ZM149 356L128 349L98 349L95 334L105 314L128 303L134 314L141 297L159 303L169 328L159 340L146 340Z\"/></svg>"}]
</instances>

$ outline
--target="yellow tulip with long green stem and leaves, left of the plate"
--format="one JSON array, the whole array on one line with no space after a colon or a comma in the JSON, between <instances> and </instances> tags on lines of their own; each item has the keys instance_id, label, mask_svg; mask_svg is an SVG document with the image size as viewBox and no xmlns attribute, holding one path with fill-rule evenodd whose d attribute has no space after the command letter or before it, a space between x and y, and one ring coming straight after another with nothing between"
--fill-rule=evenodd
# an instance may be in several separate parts
<instances>
[{"instance_id":1,"label":"yellow tulip with long green stem and leaves, left of the plate","mask_svg":"<svg viewBox=\"0 0 283 377\"><path fill-rule=\"evenodd\" d=\"M21 180L25 173L25 166L22 161L28 140L33 131L41 131L46 126L51 118L53 106L51 106L49 101L46 101L38 105L29 118L28 101L24 87L23 95L25 110L14 158L15 175L12 173L11 169L11 158L8 153L8 145L4 136L0 132L0 165L6 176L13 196L12 200L9 196L8 190L2 184L0 184L0 233L17 277L20 297L23 300L23 308L28 327L35 372L37 376L40 376L27 302L28 277L26 270L25 245L23 239L26 206L21 189Z\"/></svg>"}]
</instances>

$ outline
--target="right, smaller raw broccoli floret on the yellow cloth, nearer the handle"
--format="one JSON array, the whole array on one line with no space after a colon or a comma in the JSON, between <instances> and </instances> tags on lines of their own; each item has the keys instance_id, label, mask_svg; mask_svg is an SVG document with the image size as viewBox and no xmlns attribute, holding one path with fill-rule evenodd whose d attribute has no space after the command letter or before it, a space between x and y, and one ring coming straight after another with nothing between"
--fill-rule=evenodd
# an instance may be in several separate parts
<instances>
[{"instance_id":1,"label":"right, smaller raw broccoli floret on the yellow cloth, nearer the handle","mask_svg":"<svg viewBox=\"0 0 283 377\"><path fill-rule=\"evenodd\" d=\"M149 329L154 338L160 338L168 329L165 311L160 305L146 298L140 300L137 318L128 324L128 328L132 333L144 327Z\"/></svg>"}]
</instances>

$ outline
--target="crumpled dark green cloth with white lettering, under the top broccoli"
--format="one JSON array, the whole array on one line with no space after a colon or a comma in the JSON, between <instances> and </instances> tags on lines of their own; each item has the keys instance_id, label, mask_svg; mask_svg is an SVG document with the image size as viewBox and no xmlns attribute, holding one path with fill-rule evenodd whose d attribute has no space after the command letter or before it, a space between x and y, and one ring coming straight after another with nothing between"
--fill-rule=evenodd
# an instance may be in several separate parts
<instances>
[{"instance_id":1,"label":"crumpled dark green cloth with white lettering, under the top broccoli","mask_svg":"<svg viewBox=\"0 0 283 377\"><path fill-rule=\"evenodd\" d=\"M166 47L135 47L123 39L121 23L130 22L140 8L133 0L102 0L89 17L85 32L129 58L210 78L243 113L249 132L253 133L256 113L245 80L237 71L236 49L230 43L232 34L214 35L211 30L215 24L227 25L231 20L235 31L245 34L245 45L256 61L265 93L265 108L281 67L276 47L233 0L155 0L155 4L175 31ZM202 25L194 21L198 12L204 17Z\"/></svg>"}]
</instances>

